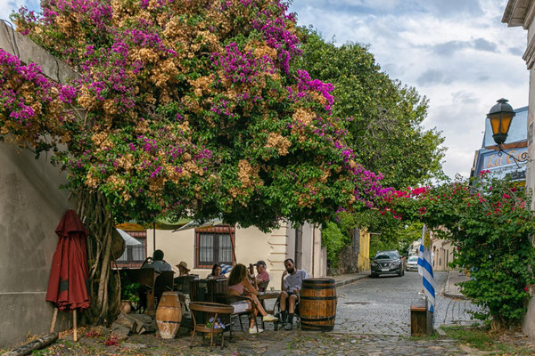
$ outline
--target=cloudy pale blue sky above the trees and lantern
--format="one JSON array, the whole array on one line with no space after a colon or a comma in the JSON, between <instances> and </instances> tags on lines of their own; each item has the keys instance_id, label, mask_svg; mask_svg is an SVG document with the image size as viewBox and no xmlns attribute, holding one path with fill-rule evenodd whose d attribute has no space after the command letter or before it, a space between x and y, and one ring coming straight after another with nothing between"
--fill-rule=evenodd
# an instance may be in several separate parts
<instances>
[{"instance_id":1,"label":"cloudy pale blue sky above the trees and lantern","mask_svg":"<svg viewBox=\"0 0 535 356\"><path fill-rule=\"evenodd\" d=\"M499 98L528 105L527 31L501 23L506 0L293 0L298 23L335 44L366 44L392 79L429 100L424 127L447 148L444 172L467 176L485 114ZM0 18L36 0L0 0Z\"/></svg>"}]
</instances>

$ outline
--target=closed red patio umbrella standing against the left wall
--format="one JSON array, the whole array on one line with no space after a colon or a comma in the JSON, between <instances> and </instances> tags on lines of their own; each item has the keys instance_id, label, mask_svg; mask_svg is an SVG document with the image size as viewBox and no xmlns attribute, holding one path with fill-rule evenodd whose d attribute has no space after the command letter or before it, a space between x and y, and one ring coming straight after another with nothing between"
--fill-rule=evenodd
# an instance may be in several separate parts
<instances>
[{"instance_id":1,"label":"closed red patio umbrella standing against the left wall","mask_svg":"<svg viewBox=\"0 0 535 356\"><path fill-rule=\"evenodd\" d=\"M86 236L89 232L74 210L67 210L55 232L59 240L53 254L46 301L65 312L87 309L90 300Z\"/></svg>"}]
</instances>

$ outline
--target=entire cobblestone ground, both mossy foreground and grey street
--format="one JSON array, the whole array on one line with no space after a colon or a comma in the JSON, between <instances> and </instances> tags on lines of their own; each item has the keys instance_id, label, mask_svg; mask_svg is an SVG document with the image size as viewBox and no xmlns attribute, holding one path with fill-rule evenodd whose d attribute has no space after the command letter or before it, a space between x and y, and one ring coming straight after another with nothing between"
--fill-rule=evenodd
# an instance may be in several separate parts
<instances>
[{"instance_id":1,"label":"entire cobblestone ground, both mossy foreground and grey street","mask_svg":"<svg viewBox=\"0 0 535 356\"><path fill-rule=\"evenodd\" d=\"M436 273L437 292L440 292L447 273ZM333 332L314 333L294 330L267 330L251 336L239 332L239 323L232 341L226 347L216 347L210 352L208 339L195 336L193 349L189 348L190 331L173 340L162 340L158 334L129 336L117 342L109 335L80 332L78 343L72 343L71 336L63 336L55 344L39 351L39 355L54 356L167 356L167 355L474 355L472 351L461 349L453 340L444 337L435 339L414 339L409 337L409 307L422 289L422 279L416 272L404 277L382 277L363 279L357 283L337 288L339 296L336 323ZM268 305L269 307L270 305ZM473 304L466 300L453 300L437 296L435 327L453 321L469 322L467 311ZM246 325L247 321L243 320ZM203 344L202 344L203 342ZM479 353L477 353L479 354Z\"/></svg>"}]
</instances>

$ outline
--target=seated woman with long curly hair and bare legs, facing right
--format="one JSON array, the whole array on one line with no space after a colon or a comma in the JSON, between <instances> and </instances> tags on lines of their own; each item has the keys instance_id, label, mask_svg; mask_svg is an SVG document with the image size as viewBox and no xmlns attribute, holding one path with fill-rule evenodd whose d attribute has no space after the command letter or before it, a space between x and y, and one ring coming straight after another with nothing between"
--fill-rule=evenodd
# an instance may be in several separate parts
<instances>
[{"instance_id":1,"label":"seated woman with long curly hair and bare legs, facing right","mask_svg":"<svg viewBox=\"0 0 535 356\"><path fill-rule=\"evenodd\" d=\"M233 267L232 271L230 271L230 277L228 278L228 294L247 296L250 299L249 301L247 301L247 303L249 304L248 307L252 308L255 318L251 318L249 322L249 334L257 333L257 328L255 328L255 322L256 316L259 313L260 315L262 315L262 320L264 321L278 320L276 317L271 314L268 314L264 310L264 308L262 308L262 305L259 303L259 298L257 297L259 292L256 290L255 287L252 287L251 282L249 281L249 278L247 276L247 267L245 267L242 263L236 264ZM236 307L239 307L239 305L236 305ZM261 333L262 331L264 330L261 328L258 329L259 333Z\"/></svg>"}]
</instances>

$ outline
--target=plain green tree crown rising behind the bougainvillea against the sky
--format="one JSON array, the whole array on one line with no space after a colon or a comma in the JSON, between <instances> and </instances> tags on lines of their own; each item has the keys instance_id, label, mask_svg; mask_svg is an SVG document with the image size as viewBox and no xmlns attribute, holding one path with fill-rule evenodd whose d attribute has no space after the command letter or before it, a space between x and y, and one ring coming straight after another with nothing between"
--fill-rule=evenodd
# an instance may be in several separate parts
<instances>
[{"instance_id":1,"label":"plain green tree crown rising behind the bougainvillea against the sky","mask_svg":"<svg viewBox=\"0 0 535 356\"><path fill-rule=\"evenodd\" d=\"M422 127L427 99L382 72L366 46L337 47L307 28L301 36L299 65L333 83L333 116L353 118L346 122L348 142L363 166L382 173L384 185L397 189L444 176L444 139Z\"/></svg>"}]
</instances>

